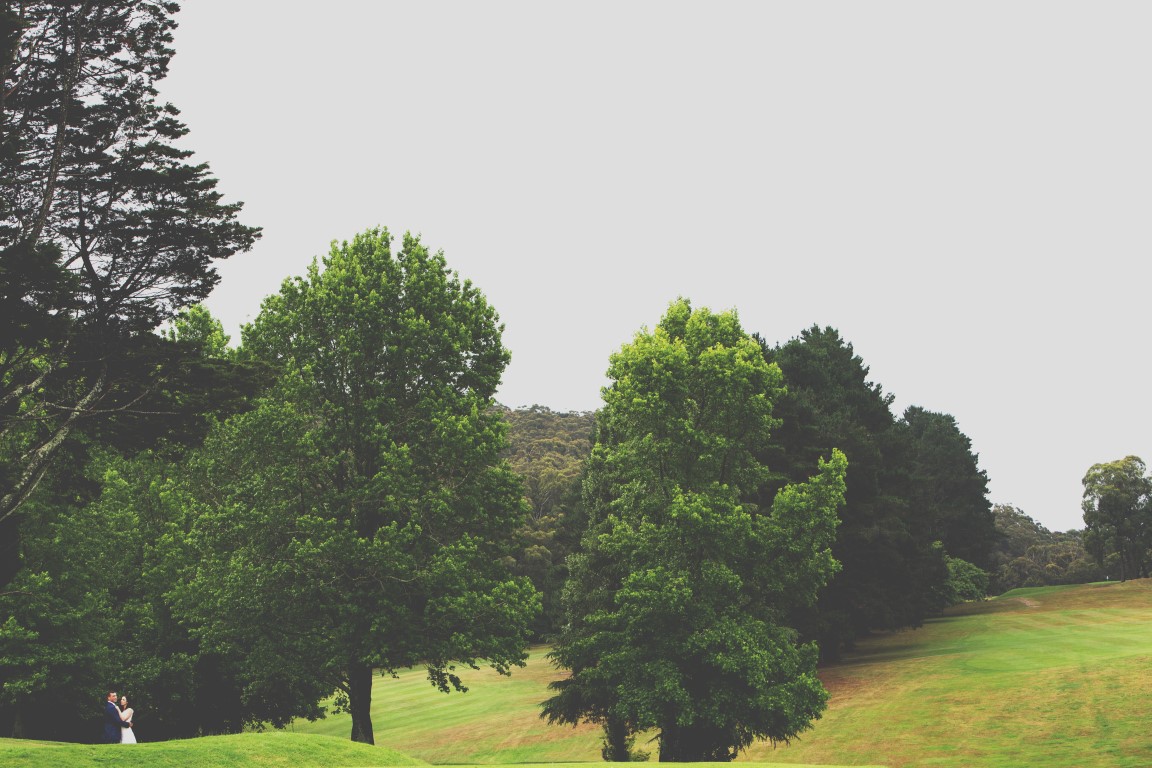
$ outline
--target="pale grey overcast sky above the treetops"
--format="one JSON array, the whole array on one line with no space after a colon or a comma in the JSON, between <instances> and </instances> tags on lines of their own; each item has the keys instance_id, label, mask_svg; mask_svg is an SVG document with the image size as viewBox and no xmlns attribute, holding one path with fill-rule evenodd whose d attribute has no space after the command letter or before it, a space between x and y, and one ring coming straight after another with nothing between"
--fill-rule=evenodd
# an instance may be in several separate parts
<instances>
[{"instance_id":1,"label":"pale grey overcast sky above the treetops","mask_svg":"<svg viewBox=\"0 0 1152 768\"><path fill-rule=\"evenodd\" d=\"M384 225L500 312L507 405L598 408L683 295L838 328L1049 529L1152 461L1150 3L183 5L161 96L264 227L234 336Z\"/></svg>"}]
</instances>

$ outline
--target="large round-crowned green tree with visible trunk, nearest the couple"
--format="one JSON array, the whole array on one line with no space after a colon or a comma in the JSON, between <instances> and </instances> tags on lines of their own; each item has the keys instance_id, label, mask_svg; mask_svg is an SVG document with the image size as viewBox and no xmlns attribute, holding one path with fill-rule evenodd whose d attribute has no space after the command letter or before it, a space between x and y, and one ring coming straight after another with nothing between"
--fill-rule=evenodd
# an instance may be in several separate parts
<instances>
[{"instance_id":1,"label":"large round-crowned green tree with visible trunk, nearest the couple","mask_svg":"<svg viewBox=\"0 0 1152 768\"><path fill-rule=\"evenodd\" d=\"M244 328L242 355L281 377L196 463L198 562L173 594L267 720L338 692L371 743L373 670L426 664L448 691L455 663L522 663L539 603L505 565L523 510L492 401L501 330L442 253L382 229L334 243Z\"/></svg>"}]
</instances>

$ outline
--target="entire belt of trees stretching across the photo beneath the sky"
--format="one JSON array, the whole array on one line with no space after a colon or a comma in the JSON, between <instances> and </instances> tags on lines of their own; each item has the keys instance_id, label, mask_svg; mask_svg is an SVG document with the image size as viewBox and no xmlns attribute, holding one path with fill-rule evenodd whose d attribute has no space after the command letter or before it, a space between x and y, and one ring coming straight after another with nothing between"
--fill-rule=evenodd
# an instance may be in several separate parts
<instances>
[{"instance_id":1,"label":"entire belt of trees stretching across the photo beneath the sky","mask_svg":"<svg viewBox=\"0 0 1152 768\"><path fill-rule=\"evenodd\" d=\"M0 735L96 739L115 687L153 740L334 697L372 743L374 675L447 693L548 642L545 716L607 759L657 729L661 759L728 760L808 728L863 636L1147 575L1139 459L1048 532L831 327L677 298L598 411L508 409L497 307L376 228L229 339L200 302L260 233L157 100L175 10L3 5Z\"/></svg>"}]
</instances>

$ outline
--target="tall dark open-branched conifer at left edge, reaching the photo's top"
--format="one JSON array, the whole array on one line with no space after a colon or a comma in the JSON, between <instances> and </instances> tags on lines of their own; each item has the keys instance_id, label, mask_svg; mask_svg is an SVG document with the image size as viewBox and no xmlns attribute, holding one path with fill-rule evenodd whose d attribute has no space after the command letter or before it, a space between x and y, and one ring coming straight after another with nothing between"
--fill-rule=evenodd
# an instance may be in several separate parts
<instances>
[{"instance_id":1,"label":"tall dark open-branched conifer at left edge, reaching the photo's top","mask_svg":"<svg viewBox=\"0 0 1152 768\"><path fill-rule=\"evenodd\" d=\"M157 101L174 2L5 2L0 45L0 562L85 421L169 377L150 333L248 249L187 128ZM14 571L0 567L0 584Z\"/></svg>"}]
</instances>

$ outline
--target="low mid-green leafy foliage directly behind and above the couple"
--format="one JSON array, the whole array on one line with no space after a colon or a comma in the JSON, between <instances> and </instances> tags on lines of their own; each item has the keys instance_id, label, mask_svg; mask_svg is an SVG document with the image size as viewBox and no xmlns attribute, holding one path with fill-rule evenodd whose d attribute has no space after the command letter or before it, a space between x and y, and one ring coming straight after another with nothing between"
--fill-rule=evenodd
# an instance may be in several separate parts
<instances>
[{"instance_id":1,"label":"low mid-green leafy foliage directly behind and above the couple","mask_svg":"<svg viewBox=\"0 0 1152 768\"><path fill-rule=\"evenodd\" d=\"M77 496L84 486L53 477L54 493L30 500L23 568L0 595L5 732L96 738L109 686L130 695L149 740L243 725L228 662L202 653L162 598L175 576L158 545L185 501L172 458L97 451L93 491Z\"/></svg>"}]
</instances>

